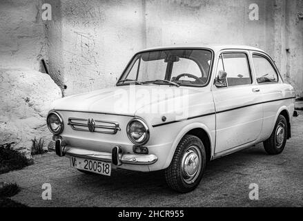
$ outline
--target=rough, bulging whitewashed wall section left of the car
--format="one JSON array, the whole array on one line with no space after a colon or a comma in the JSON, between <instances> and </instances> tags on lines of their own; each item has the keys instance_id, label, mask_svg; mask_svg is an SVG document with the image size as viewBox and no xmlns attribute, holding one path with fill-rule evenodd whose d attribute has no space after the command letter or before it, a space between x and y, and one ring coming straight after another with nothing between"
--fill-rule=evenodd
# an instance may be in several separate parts
<instances>
[{"instance_id":1,"label":"rough, bulging whitewashed wall section left of the car","mask_svg":"<svg viewBox=\"0 0 303 221\"><path fill-rule=\"evenodd\" d=\"M62 97L49 75L41 73L47 57L45 23L39 0L0 1L0 144L30 153L32 139L51 140L46 115ZM28 154L27 156L30 156Z\"/></svg>"}]
</instances>

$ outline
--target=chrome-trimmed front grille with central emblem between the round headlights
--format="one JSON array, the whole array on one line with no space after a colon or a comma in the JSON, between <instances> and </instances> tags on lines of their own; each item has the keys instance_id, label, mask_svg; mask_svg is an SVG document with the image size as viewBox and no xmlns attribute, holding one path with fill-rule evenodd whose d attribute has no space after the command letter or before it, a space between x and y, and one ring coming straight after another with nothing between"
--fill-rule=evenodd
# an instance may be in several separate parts
<instances>
[{"instance_id":1,"label":"chrome-trimmed front grille with central emblem between the round headlights","mask_svg":"<svg viewBox=\"0 0 303 221\"><path fill-rule=\"evenodd\" d=\"M117 122L108 122L97 119L83 119L83 118L68 118L68 125L75 131L88 131L96 133L115 134L121 131Z\"/></svg>"}]
</instances>

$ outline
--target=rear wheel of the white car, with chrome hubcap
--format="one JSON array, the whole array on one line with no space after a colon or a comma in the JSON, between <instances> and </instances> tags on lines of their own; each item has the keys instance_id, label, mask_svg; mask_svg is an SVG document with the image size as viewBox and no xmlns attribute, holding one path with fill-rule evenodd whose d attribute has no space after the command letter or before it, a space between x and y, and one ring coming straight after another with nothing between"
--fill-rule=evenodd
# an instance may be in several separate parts
<instances>
[{"instance_id":1,"label":"rear wheel of the white car, with chrome hubcap","mask_svg":"<svg viewBox=\"0 0 303 221\"><path fill-rule=\"evenodd\" d=\"M263 142L264 149L269 155L276 155L282 153L284 150L287 135L288 135L287 121L284 116L279 115L273 133L266 141Z\"/></svg>"}]
</instances>

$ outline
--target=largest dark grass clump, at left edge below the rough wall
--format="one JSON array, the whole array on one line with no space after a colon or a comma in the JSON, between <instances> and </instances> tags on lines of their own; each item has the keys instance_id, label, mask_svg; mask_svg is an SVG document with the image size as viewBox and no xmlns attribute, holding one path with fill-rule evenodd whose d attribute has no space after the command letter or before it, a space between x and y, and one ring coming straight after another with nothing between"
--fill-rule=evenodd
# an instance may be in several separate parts
<instances>
[{"instance_id":1,"label":"largest dark grass clump, at left edge below the rough wall","mask_svg":"<svg viewBox=\"0 0 303 221\"><path fill-rule=\"evenodd\" d=\"M0 174L32 164L32 160L28 160L25 153L12 149L12 144L14 142L0 145Z\"/></svg>"}]
</instances>

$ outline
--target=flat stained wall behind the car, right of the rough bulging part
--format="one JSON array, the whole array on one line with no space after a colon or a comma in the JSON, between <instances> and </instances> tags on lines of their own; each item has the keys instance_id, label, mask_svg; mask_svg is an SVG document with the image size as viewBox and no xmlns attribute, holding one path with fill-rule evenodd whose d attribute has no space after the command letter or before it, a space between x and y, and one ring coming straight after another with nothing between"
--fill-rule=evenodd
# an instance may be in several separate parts
<instances>
[{"instance_id":1,"label":"flat stained wall behind the car, right of the rough bulging part","mask_svg":"<svg viewBox=\"0 0 303 221\"><path fill-rule=\"evenodd\" d=\"M246 44L266 50L303 95L300 0L52 0L52 78L65 95L113 86L137 50L169 44ZM259 6L258 21L248 17Z\"/></svg>"}]
</instances>

